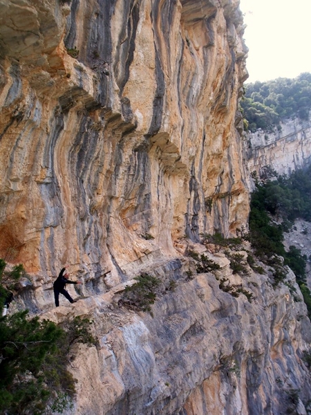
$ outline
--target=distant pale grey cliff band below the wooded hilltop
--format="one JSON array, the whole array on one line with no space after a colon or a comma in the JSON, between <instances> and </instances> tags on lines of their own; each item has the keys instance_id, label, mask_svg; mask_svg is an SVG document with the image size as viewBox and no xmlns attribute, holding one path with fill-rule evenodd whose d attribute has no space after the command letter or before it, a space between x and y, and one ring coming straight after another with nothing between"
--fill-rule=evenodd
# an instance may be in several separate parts
<instances>
[{"instance_id":1,"label":"distant pale grey cliff band below the wooded hilltop","mask_svg":"<svg viewBox=\"0 0 311 415\"><path fill-rule=\"evenodd\" d=\"M290 174L311 162L311 120L285 120L281 129L267 133L259 129L247 135L249 172L258 176L270 167L279 174Z\"/></svg>"}]
</instances>

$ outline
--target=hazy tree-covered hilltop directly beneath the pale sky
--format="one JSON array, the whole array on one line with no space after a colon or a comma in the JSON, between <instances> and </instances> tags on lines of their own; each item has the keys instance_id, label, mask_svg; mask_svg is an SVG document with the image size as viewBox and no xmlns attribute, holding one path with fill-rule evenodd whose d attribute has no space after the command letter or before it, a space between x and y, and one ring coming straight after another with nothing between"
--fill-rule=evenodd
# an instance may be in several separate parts
<instances>
[{"instance_id":1,"label":"hazy tree-covered hilltop directly beneath the pale sky","mask_svg":"<svg viewBox=\"0 0 311 415\"><path fill-rule=\"evenodd\" d=\"M252 132L259 128L280 129L279 123L285 118L307 120L311 109L311 73L247 84L241 107L247 120L245 127Z\"/></svg>"}]
</instances>

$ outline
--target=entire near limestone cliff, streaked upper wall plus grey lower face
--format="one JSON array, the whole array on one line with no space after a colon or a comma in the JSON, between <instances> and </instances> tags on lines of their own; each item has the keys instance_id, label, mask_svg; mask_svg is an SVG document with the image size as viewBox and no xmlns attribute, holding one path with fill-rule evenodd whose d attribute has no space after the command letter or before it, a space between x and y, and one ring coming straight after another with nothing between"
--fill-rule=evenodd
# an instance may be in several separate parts
<instances>
[{"instance_id":1,"label":"entire near limestone cliff, streaked upper wall plus grey lower face","mask_svg":"<svg viewBox=\"0 0 311 415\"><path fill-rule=\"evenodd\" d=\"M0 0L0 21L0 254L32 278L15 307L89 315L100 342L71 357L70 414L279 414L298 389L305 413L299 288L185 256L247 228L238 0ZM86 298L56 310L65 263ZM153 318L117 306L142 271Z\"/></svg>"}]
</instances>

